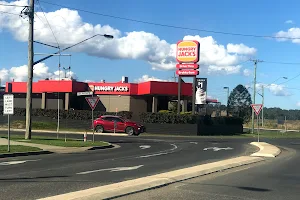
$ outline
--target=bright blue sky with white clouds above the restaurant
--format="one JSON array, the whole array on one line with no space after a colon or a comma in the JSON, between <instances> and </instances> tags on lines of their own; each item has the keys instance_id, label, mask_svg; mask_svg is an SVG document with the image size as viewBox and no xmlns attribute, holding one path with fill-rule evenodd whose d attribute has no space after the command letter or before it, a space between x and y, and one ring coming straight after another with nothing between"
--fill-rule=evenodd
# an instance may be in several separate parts
<instances>
[{"instance_id":1,"label":"bright blue sky with white clouds above the restaurant","mask_svg":"<svg viewBox=\"0 0 300 200\"><path fill-rule=\"evenodd\" d=\"M67 76L80 81L117 82L122 76L128 76L129 82L173 81L176 43L198 40L198 77L208 79L210 97L225 103L227 93L223 87L232 91L238 84L253 94L254 63L249 60L258 59L262 62L257 64L256 89L261 94L264 86L265 106L300 109L297 0L35 2L35 41L64 48L95 34L114 36L95 37L64 52L67 56L54 56L35 65L35 81L58 79L59 63L61 68L71 67ZM3 4L26 6L28 0L0 0L1 84L27 81L28 18L19 16L22 7ZM35 53L56 51L34 44ZM34 57L40 58L41 55ZM60 77L64 76L62 70ZM262 102L259 94L256 103Z\"/></svg>"}]
</instances>

